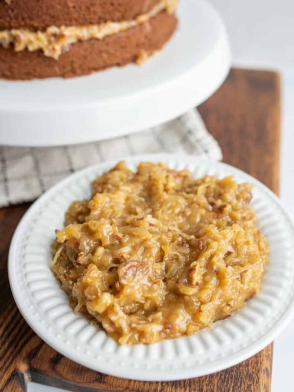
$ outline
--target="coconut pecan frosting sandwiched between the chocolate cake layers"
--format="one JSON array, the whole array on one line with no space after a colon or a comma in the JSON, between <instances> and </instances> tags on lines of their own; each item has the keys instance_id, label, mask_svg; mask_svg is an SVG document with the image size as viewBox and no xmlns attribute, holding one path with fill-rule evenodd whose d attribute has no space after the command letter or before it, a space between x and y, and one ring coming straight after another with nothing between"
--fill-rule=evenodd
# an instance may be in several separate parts
<instances>
[{"instance_id":1,"label":"coconut pecan frosting sandwiched between the chocolate cake layers","mask_svg":"<svg viewBox=\"0 0 294 392\"><path fill-rule=\"evenodd\" d=\"M146 23L149 18L166 10L172 14L178 0L160 0L149 12L134 20L123 22L107 22L100 25L86 26L49 26L45 31L30 31L27 29L11 29L0 31L0 44L4 48L14 46L16 52L43 50L45 56L58 59L61 53L78 41L103 38L120 33L131 27Z\"/></svg>"}]
</instances>

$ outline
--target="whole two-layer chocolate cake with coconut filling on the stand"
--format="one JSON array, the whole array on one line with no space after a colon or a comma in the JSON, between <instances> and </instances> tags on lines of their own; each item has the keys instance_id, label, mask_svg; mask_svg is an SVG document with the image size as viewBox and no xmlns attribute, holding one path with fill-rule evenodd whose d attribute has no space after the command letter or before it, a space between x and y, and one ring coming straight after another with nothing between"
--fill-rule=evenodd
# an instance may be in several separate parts
<instances>
[{"instance_id":1,"label":"whole two-layer chocolate cake with coconut filling on the stand","mask_svg":"<svg viewBox=\"0 0 294 392\"><path fill-rule=\"evenodd\" d=\"M171 38L177 0L0 0L0 77L74 77L142 63Z\"/></svg>"}]
</instances>

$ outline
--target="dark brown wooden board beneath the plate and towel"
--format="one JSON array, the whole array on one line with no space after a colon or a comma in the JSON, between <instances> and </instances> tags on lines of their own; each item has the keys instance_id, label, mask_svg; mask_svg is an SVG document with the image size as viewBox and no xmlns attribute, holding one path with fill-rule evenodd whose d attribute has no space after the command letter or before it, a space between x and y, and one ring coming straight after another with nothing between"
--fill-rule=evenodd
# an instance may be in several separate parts
<instances>
[{"instance_id":1,"label":"dark brown wooden board beneath the plate and towel","mask_svg":"<svg viewBox=\"0 0 294 392\"><path fill-rule=\"evenodd\" d=\"M221 89L199 107L220 142L224 161L278 192L280 86L272 72L232 70ZM0 391L22 392L30 380L70 391L270 392L272 345L210 376L176 382L123 380L66 359L29 328L9 288L7 255L29 204L0 210Z\"/></svg>"}]
</instances>

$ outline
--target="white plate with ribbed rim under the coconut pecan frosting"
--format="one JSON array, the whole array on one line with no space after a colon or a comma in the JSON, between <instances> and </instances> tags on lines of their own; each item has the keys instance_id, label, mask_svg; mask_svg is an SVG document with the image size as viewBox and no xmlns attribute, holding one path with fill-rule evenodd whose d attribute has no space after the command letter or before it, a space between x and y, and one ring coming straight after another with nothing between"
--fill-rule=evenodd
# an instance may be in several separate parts
<instances>
[{"instance_id":1,"label":"white plate with ribbed rim under the coconut pecan frosting","mask_svg":"<svg viewBox=\"0 0 294 392\"><path fill-rule=\"evenodd\" d=\"M90 182L115 162L74 173L41 196L20 222L9 252L15 301L33 330L66 357L102 373L137 380L176 380L213 373L254 355L281 332L294 314L294 224L279 199L253 177L229 165L185 155L141 155L126 159L164 161L204 174L233 174L253 183L252 206L270 244L270 260L259 294L230 318L190 337L151 345L119 345L81 315L74 315L51 270L50 243L75 199L90 196Z\"/></svg>"}]
</instances>

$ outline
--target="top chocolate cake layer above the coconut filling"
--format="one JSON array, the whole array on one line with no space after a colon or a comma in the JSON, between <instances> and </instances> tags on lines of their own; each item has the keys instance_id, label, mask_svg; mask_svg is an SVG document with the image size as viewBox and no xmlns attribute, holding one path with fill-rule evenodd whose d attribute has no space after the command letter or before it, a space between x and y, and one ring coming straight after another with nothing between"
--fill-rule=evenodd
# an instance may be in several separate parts
<instances>
[{"instance_id":1,"label":"top chocolate cake layer above the coconut filling","mask_svg":"<svg viewBox=\"0 0 294 392\"><path fill-rule=\"evenodd\" d=\"M0 0L0 30L94 25L131 20L158 0Z\"/></svg>"}]
</instances>

